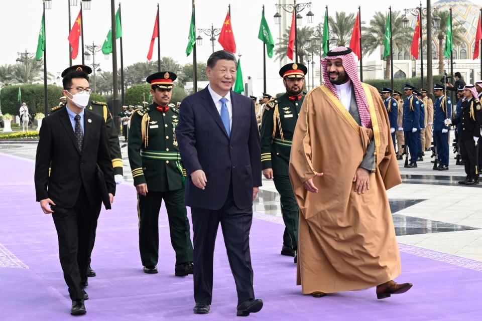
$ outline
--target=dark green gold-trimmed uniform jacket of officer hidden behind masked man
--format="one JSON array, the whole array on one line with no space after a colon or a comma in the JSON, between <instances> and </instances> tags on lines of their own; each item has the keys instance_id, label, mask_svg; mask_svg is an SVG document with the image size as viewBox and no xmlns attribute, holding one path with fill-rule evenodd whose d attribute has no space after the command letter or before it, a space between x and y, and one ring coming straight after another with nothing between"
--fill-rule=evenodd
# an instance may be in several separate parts
<instances>
[{"instance_id":1,"label":"dark green gold-trimmed uniform jacket of officer hidden behind masked man","mask_svg":"<svg viewBox=\"0 0 482 321\"><path fill-rule=\"evenodd\" d=\"M65 107L64 104L60 104L56 107L50 109L50 112L56 112ZM112 120L112 115L110 114L107 103L91 101L85 107L85 109L90 110L97 115L104 117L105 127L107 128L107 134L109 135L109 151L110 157L112 158L112 167L114 168L114 175L123 175L122 169L122 155L121 146L119 145L119 136L117 135L117 129L115 129L114 122Z\"/></svg>"}]
</instances>

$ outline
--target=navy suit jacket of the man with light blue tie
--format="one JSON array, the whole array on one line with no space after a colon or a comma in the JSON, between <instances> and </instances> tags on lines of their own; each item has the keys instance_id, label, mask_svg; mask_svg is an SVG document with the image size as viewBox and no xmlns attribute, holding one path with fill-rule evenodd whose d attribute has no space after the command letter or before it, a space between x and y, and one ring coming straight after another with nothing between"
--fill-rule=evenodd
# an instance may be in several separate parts
<instances>
[{"instance_id":1,"label":"navy suit jacket of the man with light blue tie","mask_svg":"<svg viewBox=\"0 0 482 321\"><path fill-rule=\"evenodd\" d=\"M229 138L207 87L181 102L176 137L188 176L187 206L220 209L231 180L236 206L244 209L253 205L253 187L261 186L260 133L255 105L251 99L233 91L231 105ZM207 177L204 190L191 181L191 173L201 169Z\"/></svg>"}]
</instances>

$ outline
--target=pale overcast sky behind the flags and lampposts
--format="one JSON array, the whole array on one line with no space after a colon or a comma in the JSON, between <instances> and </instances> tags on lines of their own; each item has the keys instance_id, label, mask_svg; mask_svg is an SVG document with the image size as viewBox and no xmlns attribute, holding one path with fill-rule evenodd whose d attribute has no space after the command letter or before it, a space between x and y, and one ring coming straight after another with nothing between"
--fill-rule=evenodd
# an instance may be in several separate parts
<instances>
[{"instance_id":1,"label":"pale overcast sky behind the flags and lampposts","mask_svg":"<svg viewBox=\"0 0 482 321\"><path fill-rule=\"evenodd\" d=\"M161 56L171 56L181 64L192 62L192 56L186 57L185 49L191 18L191 0L155 1L155 0L124 0L122 1L122 29L124 43L124 66L135 62L147 61L147 52L154 27L156 6L160 3L161 21ZM302 1L300 1L302 2ZM362 7L362 21L368 23L376 11L392 9L402 10L419 5L419 0L386 1L380 0L342 0L335 2L314 1L311 11L314 13L314 24L323 21L324 7L329 5L329 15L335 11L356 13L357 7ZM91 10L84 11L84 44L92 41L101 46L110 27L110 0L92 0ZM196 28L221 28L226 16L227 6L231 4L232 30L238 53L243 56L243 75L254 78L263 77L263 46L258 40L261 20L261 7L266 6L265 15L271 28L275 43L278 41L279 30L274 23L276 1L259 0L198 0L196 1ZM115 2L116 6L118 1ZM424 1L425 4L425 1ZM2 1L0 9L0 30L2 50L0 64L14 64L17 52L35 52L38 33L42 18L42 0ZM52 9L46 11L47 32L47 70L57 76L68 67L68 0L52 0ZM80 5L71 7L72 22L77 17ZM301 12L305 17L308 12ZM287 13L282 12L283 15ZM303 26L307 25L306 19ZM196 31L197 36L197 31ZM208 37L202 35L204 41L197 49L198 61L206 61L211 53ZM118 41L117 41L118 43ZM215 50L221 49L216 42ZM81 55L74 60L74 64L81 63ZM157 60L157 43L153 54ZM279 62L267 59L268 78L278 76ZM101 52L96 56L96 63L100 62L102 70L112 70L112 60L105 60ZM91 61L90 61L91 63ZM117 66L120 62L117 63Z\"/></svg>"}]
</instances>

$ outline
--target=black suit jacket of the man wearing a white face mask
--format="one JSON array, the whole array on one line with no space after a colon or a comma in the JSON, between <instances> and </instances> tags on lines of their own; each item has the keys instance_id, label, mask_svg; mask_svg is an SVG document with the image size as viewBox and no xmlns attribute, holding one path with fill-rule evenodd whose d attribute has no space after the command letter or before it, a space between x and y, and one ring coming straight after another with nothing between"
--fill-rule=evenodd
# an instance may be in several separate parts
<instances>
[{"instance_id":1,"label":"black suit jacket of the man wearing a white face mask","mask_svg":"<svg viewBox=\"0 0 482 321\"><path fill-rule=\"evenodd\" d=\"M97 164L104 173L107 191L115 194L114 172L102 116L84 111L82 151L77 147L66 108L45 117L35 161L37 202L50 198L57 206L73 207L83 184L89 203L97 206L101 202Z\"/></svg>"}]
</instances>

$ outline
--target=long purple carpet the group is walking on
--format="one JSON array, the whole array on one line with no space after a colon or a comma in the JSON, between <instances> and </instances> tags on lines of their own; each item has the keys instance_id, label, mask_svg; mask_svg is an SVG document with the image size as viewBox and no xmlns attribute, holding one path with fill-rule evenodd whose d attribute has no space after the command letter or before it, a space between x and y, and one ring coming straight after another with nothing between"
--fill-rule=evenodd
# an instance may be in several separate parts
<instances>
[{"instance_id":1,"label":"long purple carpet the group is walking on","mask_svg":"<svg viewBox=\"0 0 482 321\"><path fill-rule=\"evenodd\" d=\"M0 320L71 319L70 299L50 215L35 202L34 163L0 153ZM17 170L12 170L17 169ZM236 291L219 229L211 313L195 315L192 275L174 276L174 251L163 207L158 274L145 274L138 248L136 193L117 187L113 210L102 211L92 254L97 276L86 288L85 320L226 320L235 316ZM164 213L164 215L162 215ZM401 245L400 282L414 287L377 300L375 289L323 298L301 294L292 258L281 256L283 226L253 220L251 255L263 320L481 320L482 264Z\"/></svg>"}]
</instances>

